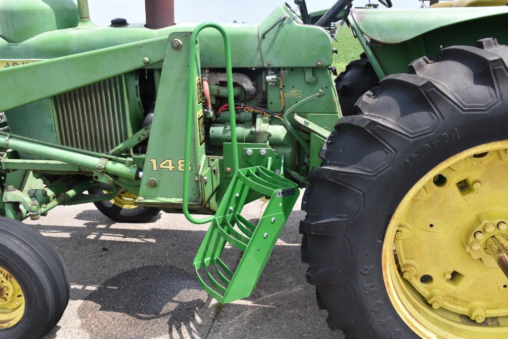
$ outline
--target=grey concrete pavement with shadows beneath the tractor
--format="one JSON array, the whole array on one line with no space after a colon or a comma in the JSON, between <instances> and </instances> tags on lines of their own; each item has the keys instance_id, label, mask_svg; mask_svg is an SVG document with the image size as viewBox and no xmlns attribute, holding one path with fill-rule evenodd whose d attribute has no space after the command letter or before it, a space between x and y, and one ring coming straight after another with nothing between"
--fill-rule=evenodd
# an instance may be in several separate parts
<instances>
[{"instance_id":1,"label":"grey concrete pavement with shadows beneath the tractor","mask_svg":"<svg viewBox=\"0 0 508 339\"><path fill-rule=\"evenodd\" d=\"M247 205L244 216L258 219L265 204ZM163 213L150 223L116 223L92 204L27 220L56 246L71 280L69 306L45 338L339 337L305 281L299 207L300 201L253 294L221 308L192 265L207 225Z\"/></svg>"}]
</instances>

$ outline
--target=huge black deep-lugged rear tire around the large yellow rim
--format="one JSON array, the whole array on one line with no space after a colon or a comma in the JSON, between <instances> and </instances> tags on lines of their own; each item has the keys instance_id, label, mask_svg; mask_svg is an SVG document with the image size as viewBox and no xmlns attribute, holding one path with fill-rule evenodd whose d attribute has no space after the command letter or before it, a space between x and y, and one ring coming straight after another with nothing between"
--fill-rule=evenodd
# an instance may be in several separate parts
<instances>
[{"instance_id":1,"label":"huge black deep-lugged rear tire around the large yellow rim","mask_svg":"<svg viewBox=\"0 0 508 339\"><path fill-rule=\"evenodd\" d=\"M328 310L332 330L342 330L351 339L502 337L506 333L506 315L487 321L475 317L472 308L472 315L457 314L451 326L429 325L422 314L444 307L442 300L434 307L430 298L421 298L422 313L402 312L395 292L387 291L387 276L395 272L412 278L394 267L396 260L387 261L386 253L388 248L394 255L397 242L389 225L407 194L414 196L415 184L453 156L508 140L507 61L508 47L495 39L481 40L477 47L445 48L435 61L421 58L410 65L410 74L390 75L367 92L357 102L361 114L341 119L328 137L321 152L322 167L314 168L309 176L302 202L307 217L300 232L302 261L309 264L307 280L316 286L317 303ZM470 154L464 159L475 163L475 158ZM461 183L449 183L454 194L460 192ZM449 212L445 206L436 208L443 215ZM430 249L441 253L441 258L448 256L447 246L434 248L424 241L419 246L424 258L429 258L426 250ZM461 255L469 255L463 247ZM487 277L498 274L492 269L485 269ZM434 283L441 280L435 278ZM432 284L423 275L420 281ZM470 284L471 289L482 286L481 281ZM499 286L501 293L503 288ZM448 297L443 296L446 303ZM457 303L463 301L454 297ZM506 296L500 303L495 307L508 305Z\"/></svg>"}]
</instances>

